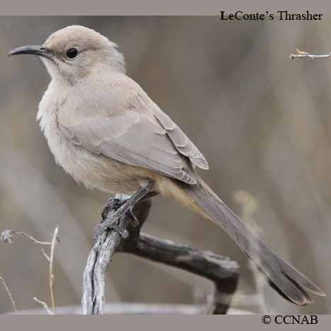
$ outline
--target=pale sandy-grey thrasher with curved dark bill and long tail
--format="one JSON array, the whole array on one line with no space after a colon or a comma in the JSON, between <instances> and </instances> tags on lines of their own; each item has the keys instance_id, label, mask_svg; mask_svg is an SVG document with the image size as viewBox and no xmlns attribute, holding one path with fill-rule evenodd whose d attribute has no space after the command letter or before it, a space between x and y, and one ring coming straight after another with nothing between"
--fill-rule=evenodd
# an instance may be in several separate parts
<instances>
[{"instance_id":1,"label":"pale sandy-grey thrasher with curved dark bill and long tail","mask_svg":"<svg viewBox=\"0 0 331 331\"><path fill-rule=\"evenodd\" d=\"M69 25L42 45L8 53L40 57L50 84L37 120L55 161L76 182L108 194L134 194L147 182L214 221L287 301L312 303L325 293L278 257L197 173L206 158L126 74L117 44L91 28Z\"/></svg>"}]
</instances>

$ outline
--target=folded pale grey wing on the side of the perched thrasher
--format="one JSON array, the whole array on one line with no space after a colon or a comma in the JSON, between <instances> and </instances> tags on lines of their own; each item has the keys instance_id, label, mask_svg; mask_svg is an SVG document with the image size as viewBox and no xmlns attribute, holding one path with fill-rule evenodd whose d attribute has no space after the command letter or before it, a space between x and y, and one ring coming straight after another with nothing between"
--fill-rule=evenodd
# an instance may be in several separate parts
<instances>
[{"instance_id":1,"label":"folded pale grey wing on the side of the perched thrasher","mask_svg":"<svg viewBox=\"0 0 331 331\"><path fill-rule=\"evenodd\" d=\"M179 128L166 128L135 111L111 117L92 115L71 125L58 121L58 125L67 140L92 153L153 170L188 184L196 182L187 166L188 158L196 156L194 145L187 138L180 139L186 136Z\"/></svg>"}]
</instances>

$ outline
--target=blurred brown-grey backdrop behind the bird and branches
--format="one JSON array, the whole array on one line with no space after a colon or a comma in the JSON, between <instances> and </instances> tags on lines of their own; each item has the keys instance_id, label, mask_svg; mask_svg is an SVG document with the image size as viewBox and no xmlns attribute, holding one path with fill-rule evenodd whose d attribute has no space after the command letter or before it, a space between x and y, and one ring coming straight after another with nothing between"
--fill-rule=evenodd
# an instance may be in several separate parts
<instances>
[{"instance_id":1,"label":"blurred brown-grey backdrop behind the bird and branches","mask_svg":"<svg viewBox=\"0 0 331 331\"><path fill-rule=\"evenodd\" d=\"M77 185L54 163L37 105L50 78L39 59L6 54L42 44L80 24L117 42L129 76L183 129L209 161L200 171L221 199L277 254L330 294L299 308L264 286L213 223L161 197L144 231L240 264L233 307L252 312L331 313L331 62L289 59L298 49L331 52L331 18L315 23L221 22L204 17L0 18L0 232L25 231L55 251L57 306L79 305L93 228L108 199ZM18 309L50 303L48 262L21 237L0 243L0 274ZM116 254L107 301L199 303L209 281L138 257ZM0 313L11 303L0 284Z\"/></svg>"}]
</instances>

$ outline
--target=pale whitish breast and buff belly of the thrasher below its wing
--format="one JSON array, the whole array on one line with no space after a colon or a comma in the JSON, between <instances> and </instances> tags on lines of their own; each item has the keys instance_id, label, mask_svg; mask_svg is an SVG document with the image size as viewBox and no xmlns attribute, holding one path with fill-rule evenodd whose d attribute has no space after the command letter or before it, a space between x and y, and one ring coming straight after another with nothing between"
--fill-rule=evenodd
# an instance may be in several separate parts
<instances>
[{"instance_id":1,"label":"pale whitish breast and buff belly of the thrasher below its wing","mask_svg":"<svg viewBox=\"0 0 331 331\"><path fill-rule=\"evenodd\" d=\"M149 171L98 155L68 141L59 129L58 115L66 105L63 99L42 100L37 118L57 164L76 182L108 193L132 194ZM67 110L66 110L67 111Z\"/></svg>"}]
</instances>

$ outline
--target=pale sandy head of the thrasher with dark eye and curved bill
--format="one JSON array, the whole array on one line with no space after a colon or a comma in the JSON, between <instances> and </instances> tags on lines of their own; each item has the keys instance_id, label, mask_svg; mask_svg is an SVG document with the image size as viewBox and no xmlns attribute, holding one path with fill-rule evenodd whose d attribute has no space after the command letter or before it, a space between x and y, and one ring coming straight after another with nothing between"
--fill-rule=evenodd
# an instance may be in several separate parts
<instances>
[{"instance_id":1,"label":"pale sandy head of the thrasher with dark eye and curved bill","mask_svg":"<svg viewBox=\"0 0 331 331\"><path fill-rule=\"evenodd\" d=\"M52 79L71 83L98 69L125 72L124 57L117 51L117 45L81 25L71 25L52 33L43 45L15 48L8 56L16 54L37 55Z\"/></svg>"}]
</instances>

